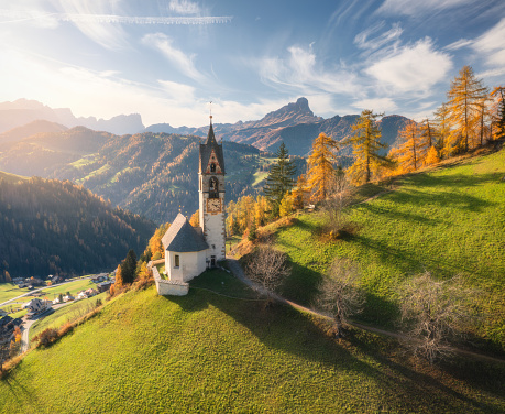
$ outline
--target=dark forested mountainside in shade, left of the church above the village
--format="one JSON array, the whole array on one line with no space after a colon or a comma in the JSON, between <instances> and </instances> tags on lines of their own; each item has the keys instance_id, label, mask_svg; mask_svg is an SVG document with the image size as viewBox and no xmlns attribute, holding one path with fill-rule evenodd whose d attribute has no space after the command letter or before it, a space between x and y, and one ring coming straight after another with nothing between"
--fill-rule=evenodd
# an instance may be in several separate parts
<instances>
[{"instance_id":1,"label":"dark forested mountainside in shade, left of the church above the village","mask_svg":"<svg viewBox=\"0 0 505 414\"><path fill-rule=\"evenodd\" d=\"M80 275L141 253L155 226L70 182L0 174L0 274Z\"/></svg>"}]
</instances>

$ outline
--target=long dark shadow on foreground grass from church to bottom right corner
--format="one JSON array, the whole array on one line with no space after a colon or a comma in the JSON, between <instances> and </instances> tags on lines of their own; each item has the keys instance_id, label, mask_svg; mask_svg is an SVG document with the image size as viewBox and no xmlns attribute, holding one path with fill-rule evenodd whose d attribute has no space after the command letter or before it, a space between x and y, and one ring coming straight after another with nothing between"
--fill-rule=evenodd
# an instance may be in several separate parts
<instances>
[{"instance_id":1,"label":"long dark shadow on foreground grass from church to bottom right corner","mask_svg":"<svg viewBox=\"0 0 505 414\"><path fill-rule=\"evenodd\" d=\"M373 403L376 403L378 397L384 399L381 402L386 411L397 411L400 407L405 412L438 413L469 408L486 413L499 412L494 405L459 392L458 390L466 388L458 383L451 386L451 381L443 380L443 373L427 374L411 364L392 360L373 340L363 340L361 336L351 337L347 345L333 340L323 334L312 316L286 305L265 306L262 302L230 299L201 291L190 292L185 297L167 299L178 303L188 312L206 307L221 310L273 351L265 355L265 358L284 358L282 355L286 353L307 363L326 367L322 374L329 375L328 381L331 381L331 372L341 379L349 377L350 381L352 378L361 377L365 388L360 396L363 401L373 399ZM293 359L289 361L293 364L287 368L296 377L297 367L303 369L305 366ZM369 394L370 382L380 391L372 390ZM331 389L331 385L329 388ZM321 385L321 391L326 389L326 385ZM495 397L499 396L495 388L486 386L485 391ZM355 395L350 396L354 397Z\"/></svg>"}]
</instances>

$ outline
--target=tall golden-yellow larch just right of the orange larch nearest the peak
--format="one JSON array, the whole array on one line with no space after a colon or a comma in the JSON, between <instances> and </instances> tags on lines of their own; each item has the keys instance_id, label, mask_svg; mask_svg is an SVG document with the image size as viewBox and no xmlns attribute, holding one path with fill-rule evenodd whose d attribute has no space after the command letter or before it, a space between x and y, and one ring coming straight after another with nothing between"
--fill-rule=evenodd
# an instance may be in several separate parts
<instances>
[{"instance_id":1,"label":"tall golden-yellow larch just right of the orange larch nearest the peak","mask_svg":"<svg viewBox=\"0 0 505 414\"><path fill-rule=\"evenodd\" d=\"M354 184L369 183L381 167L389 165L387 159L378 153L387 148L387 144L381 142L382 132L376 122L383 116L369 109L363 110L352 126L355 134L345 141L345 144L352 145L354 155L354 163L348 168Z\"/></svg>"}]
</instances>

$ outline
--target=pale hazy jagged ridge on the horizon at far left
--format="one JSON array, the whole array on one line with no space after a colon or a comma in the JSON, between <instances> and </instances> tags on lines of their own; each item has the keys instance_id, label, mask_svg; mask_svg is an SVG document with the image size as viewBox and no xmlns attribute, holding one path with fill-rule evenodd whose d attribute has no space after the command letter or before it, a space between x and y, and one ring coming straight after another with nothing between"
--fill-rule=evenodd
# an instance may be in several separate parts
<instances>
[{"instance_id":1,"label":"pale hazy jagged ridge on the horizon at far left","mask_svg":"<svg viewBox=\"0 0 505 414\"><path fill-rule=\"evenodd\" d=\"M6 132L37 120L61 123L66 128L83 126L118 135L135 133L145 128L140 113L119 115L109 120L97 119L95 117L77 118L68 108L53 109L36 100L18 99L13 102L0 102L0 132Z\"/></svg>"}]
</instances>

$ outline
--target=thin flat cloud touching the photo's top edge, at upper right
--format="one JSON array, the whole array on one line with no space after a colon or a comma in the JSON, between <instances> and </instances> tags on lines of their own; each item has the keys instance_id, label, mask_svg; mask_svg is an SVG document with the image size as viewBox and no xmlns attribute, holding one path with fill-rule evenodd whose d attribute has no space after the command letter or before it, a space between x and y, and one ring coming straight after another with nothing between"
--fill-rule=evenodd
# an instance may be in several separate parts
<instances>
[{"instance_id":1,"label":"thin flat cloud touching the photo's top edge, at upper right","mask_svg":"<svg viewBox=\"0 0 505 414\"><path fill-rule=\"evenodd\" d=\"M419 15L464 6L473 0L386 0L377 9L377 13Z\"/></svg>"}]
</instances>

